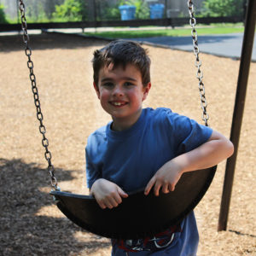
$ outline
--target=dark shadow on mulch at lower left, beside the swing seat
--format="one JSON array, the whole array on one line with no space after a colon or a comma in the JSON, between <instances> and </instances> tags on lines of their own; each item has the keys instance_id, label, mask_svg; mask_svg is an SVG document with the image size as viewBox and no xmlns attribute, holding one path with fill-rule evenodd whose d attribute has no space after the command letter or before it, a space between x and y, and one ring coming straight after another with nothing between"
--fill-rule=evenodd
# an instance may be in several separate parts
<instances>
[{"instance_id":1,"label":"dark shadow on mulch at lower left, beside the swing seat","mask_svg":"<svg viewBox=\"0 0 256 256\"><path fill-rule=\"evenodd\" d=\"M0 159L0 255L65 256L109 247L108 241L87 232L88 241L78 241L75 232L84 230L67 218L36 215L54 203L39 190L49 182L45 172L36 163ZM72 172L58 170L63 181L72 180Z\"/></svg>"}]
</instances>

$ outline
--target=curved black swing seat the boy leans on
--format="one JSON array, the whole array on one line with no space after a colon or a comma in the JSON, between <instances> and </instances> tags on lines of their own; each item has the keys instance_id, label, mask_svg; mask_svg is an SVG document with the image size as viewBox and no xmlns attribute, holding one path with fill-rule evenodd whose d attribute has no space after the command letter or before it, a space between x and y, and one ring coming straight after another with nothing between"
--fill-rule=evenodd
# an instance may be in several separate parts
<instances>
[{"instance_id":1,"label":"curved black swing seat the boy leans on","mask_svg":"<svg viewBox=\"0 0 256 256\"><path fill-rule=\"evenodd\" d=\"M67 218L99 236L116 239L152 237L173 224L178 224L207 192L216 166L196 172L186 172L173 192L155 196L143 194L143 189L129 194L118 207L102 209L94 197L51 191L57 207Z\"/></svg>"}]
</instances>

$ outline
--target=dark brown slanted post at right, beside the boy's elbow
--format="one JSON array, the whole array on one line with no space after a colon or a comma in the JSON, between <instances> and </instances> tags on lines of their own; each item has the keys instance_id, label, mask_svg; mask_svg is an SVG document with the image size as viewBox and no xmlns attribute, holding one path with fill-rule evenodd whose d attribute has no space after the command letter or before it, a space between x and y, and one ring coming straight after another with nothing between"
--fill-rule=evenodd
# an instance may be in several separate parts
<instances>
[{"instance_id":1,"label":"dark brown slanted post at right, beside the boy's elbow","mask_svg":"<svg viewBox=\"0 0 256 256\"><path fill-rule=\"evenodd\" d=\"M218 231L227 230L228 215L230 209L230 197L236 168L236 156L238 151L239 137L241 131L242 114L245 105L247 79L253 52L253 38L256 22L256 1L249 0L247 4L247 15L245 31L241 49L240 69L236 88L236 102L233 113L230 141L235 146L235 152L227 160L222 201L218 217Z\"/></svg>"}]
</instances>

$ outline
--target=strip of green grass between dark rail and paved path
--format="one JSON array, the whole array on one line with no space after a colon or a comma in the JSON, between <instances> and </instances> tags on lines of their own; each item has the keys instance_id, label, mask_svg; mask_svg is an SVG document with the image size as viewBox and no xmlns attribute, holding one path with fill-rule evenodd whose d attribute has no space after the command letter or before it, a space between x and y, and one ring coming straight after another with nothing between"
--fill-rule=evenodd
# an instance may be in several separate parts
<instances>
[{"instance_id":1,"label":"strip of green grass between dark rail and paved path","mask_svg":"<svg viewBox=\"0 0 256 256\"><path fill-rule=\"evenodd\" d=\"M227 34L227 33L236 33L243 32L243 26L205 26L196 28L199 35L212 35L212 34ZM191 35L191 28L160 28L160 29L145 29L140 28L139 30L123 30L121 29L116 31L108 32L84 32L88 36L98 36L102 38L151 38L151 37L184 37Z\"/></svg>"}]
</instances>

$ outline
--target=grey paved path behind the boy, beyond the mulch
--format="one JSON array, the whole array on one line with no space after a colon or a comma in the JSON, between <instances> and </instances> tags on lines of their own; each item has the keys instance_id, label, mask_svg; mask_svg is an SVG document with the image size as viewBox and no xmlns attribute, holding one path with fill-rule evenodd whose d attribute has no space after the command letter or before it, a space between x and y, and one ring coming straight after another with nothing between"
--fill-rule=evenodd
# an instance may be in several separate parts
<instances>
[{"instance_id":1,"label":"grey paved path behind the boy, beyond the mulch","mask_svg":"<svg viewBox=\"0 0 256 256\"><path fill-rule=\"evenodd\" d=\"M230 58L240 58L243 33L198 36L201 52ZM172 49L192 50L191 37L133 38L149 44L159 44ZM254 38L252 60L256 61L256 40Z\"/></svg>"}]
</instances>

